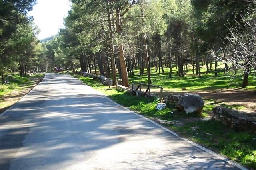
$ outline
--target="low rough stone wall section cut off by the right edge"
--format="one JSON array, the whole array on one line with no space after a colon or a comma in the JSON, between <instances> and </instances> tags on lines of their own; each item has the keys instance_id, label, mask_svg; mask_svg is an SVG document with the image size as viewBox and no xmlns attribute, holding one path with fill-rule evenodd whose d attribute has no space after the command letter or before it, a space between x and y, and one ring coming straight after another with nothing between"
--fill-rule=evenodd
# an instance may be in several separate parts
<instances>
[{"instance_id":1,"label":"low rough stone wall section cut off by the right edge","mask_svg":"<svg viewBox=\"0 0 256 170\"><path fill-rule=\"evenodd\" d=\"M212 109L212 119L221 121L228 128L235 128L243 131L252 131L256 133L256 118L248 117L236 110L226 107L214 107Z\"/></svg>"}]
</instances>

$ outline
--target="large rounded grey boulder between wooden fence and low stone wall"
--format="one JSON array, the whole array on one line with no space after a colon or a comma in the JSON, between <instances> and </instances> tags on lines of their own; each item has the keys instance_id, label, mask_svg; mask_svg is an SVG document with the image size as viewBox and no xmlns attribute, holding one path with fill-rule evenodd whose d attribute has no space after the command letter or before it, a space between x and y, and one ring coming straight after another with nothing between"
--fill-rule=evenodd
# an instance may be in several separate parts
<instances>
[{"instance_id":1,"label":"large rounded grey boulder between wooden fence and low stone wall","mask_svg":"<svg viewBox=\"0 0 256 170\"><path fill-rule=\"evenodd\" d=\"M204 108L204 101L198 94L184 93L180 95L176 108L185 113L202 113Z\"/></svg>"}]
</instances>

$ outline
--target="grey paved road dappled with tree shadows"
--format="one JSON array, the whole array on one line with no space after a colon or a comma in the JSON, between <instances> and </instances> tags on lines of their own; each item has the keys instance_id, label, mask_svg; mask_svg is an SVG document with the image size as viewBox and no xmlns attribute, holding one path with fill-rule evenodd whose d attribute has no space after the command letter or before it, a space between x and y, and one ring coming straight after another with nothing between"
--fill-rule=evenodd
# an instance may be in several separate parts
<instances>
[{"instance_id":1,"label":"grey paved road dappled with tree shadows","mask_svg":"<svg viewBox=\"0 0 256 170\"><path fill-rule=\"evenodd\" d=\"M70 76L47 74L0 117L0 169L238 168Z\"/></svg>"}]
</instances>

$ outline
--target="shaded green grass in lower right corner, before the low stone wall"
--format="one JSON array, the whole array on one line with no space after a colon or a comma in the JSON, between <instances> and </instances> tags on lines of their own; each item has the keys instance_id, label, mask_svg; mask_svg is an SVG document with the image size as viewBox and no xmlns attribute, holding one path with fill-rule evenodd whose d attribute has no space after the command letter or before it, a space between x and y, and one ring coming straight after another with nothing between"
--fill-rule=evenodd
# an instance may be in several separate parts
<instances>
[{"instance_id":1,"label":"shaded green grass in lower right corner, before the low stone wall","mask_svg":"<svg viewBox=\"0 0 256 170\"><path fill-rule=\"evenodd\" d=\"M170 125L169 128L232 160L256 168L255 134L233 131L213 120L188 122L182 127Z\"/></svg>"}]
</instances>

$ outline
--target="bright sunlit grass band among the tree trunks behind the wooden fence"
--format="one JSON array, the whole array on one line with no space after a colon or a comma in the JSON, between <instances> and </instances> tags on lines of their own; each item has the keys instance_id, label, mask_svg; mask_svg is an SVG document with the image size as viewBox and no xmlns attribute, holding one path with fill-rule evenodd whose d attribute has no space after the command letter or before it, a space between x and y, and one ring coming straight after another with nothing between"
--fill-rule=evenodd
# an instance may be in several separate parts
<instances>
[{"instance_id":1,"label":"bright sunlit grass band among the tree trunks behind the wooden fence","mask_svg":"<svg viewBox=\"0 0 256 170\"><path fill-rule=\"evenodd\" d=\"M201 77L199 78L196 75L192 75L193 72L190 70L184 77L176 76L177 70L174 67L172 69L172 78L169 78L169 68L164 69L164 74L159 74L155 72L154 69L151 69L151 80L152 84L163 86L173 91L181 91L181 88L184 87L187 90L217 90L224 88L239 88L242 85L242 76L241 75L232 75L232 74L223 74L220 72L217 77L215 77L214 72L205 74L205 68L201 69ZM140 70L134 70L134 76L129 77L129 81L138 81L147 83L146 69L144 70L145 74L140 76ZM248 78L248 87L246 89L255 89L256 80L253 81L253 75L250 74Z\"/></svg>"}]
</instances>

